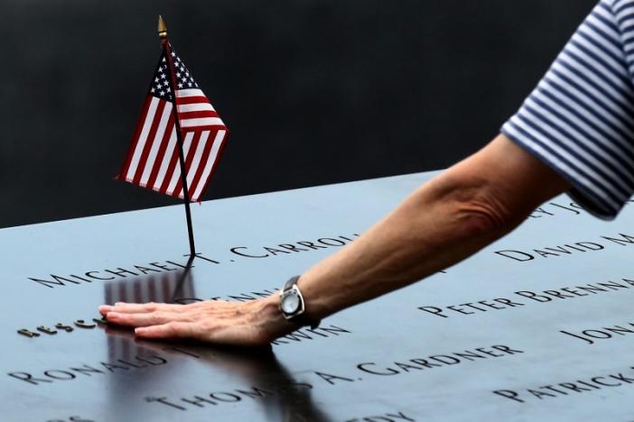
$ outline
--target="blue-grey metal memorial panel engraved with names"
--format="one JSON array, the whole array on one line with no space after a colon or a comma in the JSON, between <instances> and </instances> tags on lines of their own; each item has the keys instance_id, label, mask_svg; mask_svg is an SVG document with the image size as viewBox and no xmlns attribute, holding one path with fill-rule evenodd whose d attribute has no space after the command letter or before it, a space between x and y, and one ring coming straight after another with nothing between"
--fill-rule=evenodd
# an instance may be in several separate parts
<instances>
[{"instance_id":1,"label":"blue-grey metal memorial panel engraved with names","mask_svg":"<svg viewBox=\"0 0 634 422\"><path fill-rule=\"evenodd\" d=\"M629 420L634 212L568 197L424 282L270 349L135 341L101 303L249 300L434 175L0 230L2 420Z\"/></svg>"}]
</instances>

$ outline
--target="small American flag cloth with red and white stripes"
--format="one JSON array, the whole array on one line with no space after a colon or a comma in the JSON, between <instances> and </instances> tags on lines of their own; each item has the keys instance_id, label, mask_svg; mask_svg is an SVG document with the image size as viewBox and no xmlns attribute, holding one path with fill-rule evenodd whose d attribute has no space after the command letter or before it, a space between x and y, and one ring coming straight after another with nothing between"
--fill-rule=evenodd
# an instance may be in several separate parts
<instances>
[{"instance_id":1,"label":"small American flag cloth with red and white stripes","mask_svg":"<svg viewBox=\"0 0 634 422\"><path fill-rule=\"evenodd\" d=\"M198 202L216 170L228 129L185 63L174 50L170 50L176 78L174 88L182 129L187 186L191 202ZM169 80L168 60L163 48L132 144L117 179L182 198L181 166Z\"/></svg>"}]
</instances>

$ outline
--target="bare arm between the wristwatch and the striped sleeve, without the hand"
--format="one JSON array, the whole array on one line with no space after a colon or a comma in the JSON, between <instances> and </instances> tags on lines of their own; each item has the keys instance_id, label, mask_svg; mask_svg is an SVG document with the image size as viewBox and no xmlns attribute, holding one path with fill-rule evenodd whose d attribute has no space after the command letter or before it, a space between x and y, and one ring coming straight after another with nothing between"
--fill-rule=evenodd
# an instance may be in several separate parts
<instances>
[{"instance_id":1,"label":"bare arm between the wristwatch and the striped sleeve, without the hand","mask_svg":"<svg viewBox=\"0 0 634 422\"><path fill-rule=\"evenodd\" d=\"M523 179L514 181L505 171L542 164L532 157L521 164L526 169L512 161L501 163L508 153L526 154L509 142L498 139L488 147L495 151L480 151L426 183L354 243L306 271L300 287L309 315L331 315L462 261L567 187L556 176L548 186L531 186L544 185L540 179L514 186ZM499 162L497 171L489 161Z\"/></svg>"}]
</instances>

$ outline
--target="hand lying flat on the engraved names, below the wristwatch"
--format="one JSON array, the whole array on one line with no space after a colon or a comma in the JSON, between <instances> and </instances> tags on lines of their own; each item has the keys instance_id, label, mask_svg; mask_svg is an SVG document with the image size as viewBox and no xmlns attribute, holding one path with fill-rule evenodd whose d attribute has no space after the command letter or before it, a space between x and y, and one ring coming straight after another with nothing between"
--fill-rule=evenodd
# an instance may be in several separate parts
<instances>
[{"instance_id":1,"label":"hand lying flat on the engraved names, below the wristwatch","mask_svg":"<svg viewBox=\"0 0 634 422\"><path fill-rule=\"evenodd\" d=\"M191 339L214 344L259 346L294 330L277 307L277 298L189 305L164 303L102 305L99 313L119 326L135 327L137 337Z\"/></svg>"}]
</instances>

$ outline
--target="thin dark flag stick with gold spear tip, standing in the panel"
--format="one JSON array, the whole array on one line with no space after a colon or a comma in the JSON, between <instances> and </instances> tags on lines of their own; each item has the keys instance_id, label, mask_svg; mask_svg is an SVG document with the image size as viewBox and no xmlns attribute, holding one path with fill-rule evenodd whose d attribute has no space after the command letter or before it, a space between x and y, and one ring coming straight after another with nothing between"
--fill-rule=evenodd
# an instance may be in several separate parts
<instances>
[{"instance_id":1,"label":"thin dark flag stick with gold spear tip, standing in the panel","mask_svg":"<svg viewBox=\"0 0 634 422\"><path fill-rule=\"evenodd\" d=\"M185 216L187 216L187 232L190 236L190 253L191 258L196 254L196 245L193 239L193 228L191 226L191 210L190 210L190 191L187 186L187 169L185 168L185 153L182 148L182 133L181 122L178 118L178 105L176 103L176 77L174 75L174 60L172 58L172 50L170 50L170 42L167 40L167 27L163 22L163 17L159 14L158 23L159 38L161 38L161 44L163 45L163 51L165 51L165 59L167 60L167 69L170 73L168 80L170 86L170 93L172 94L173 107L172 113L174 115L174 124L176 124L176 143L178 143L178 156L181 163L181 181L182 181L182 197L185 202Z\"/></svg>"}]
</instances>

